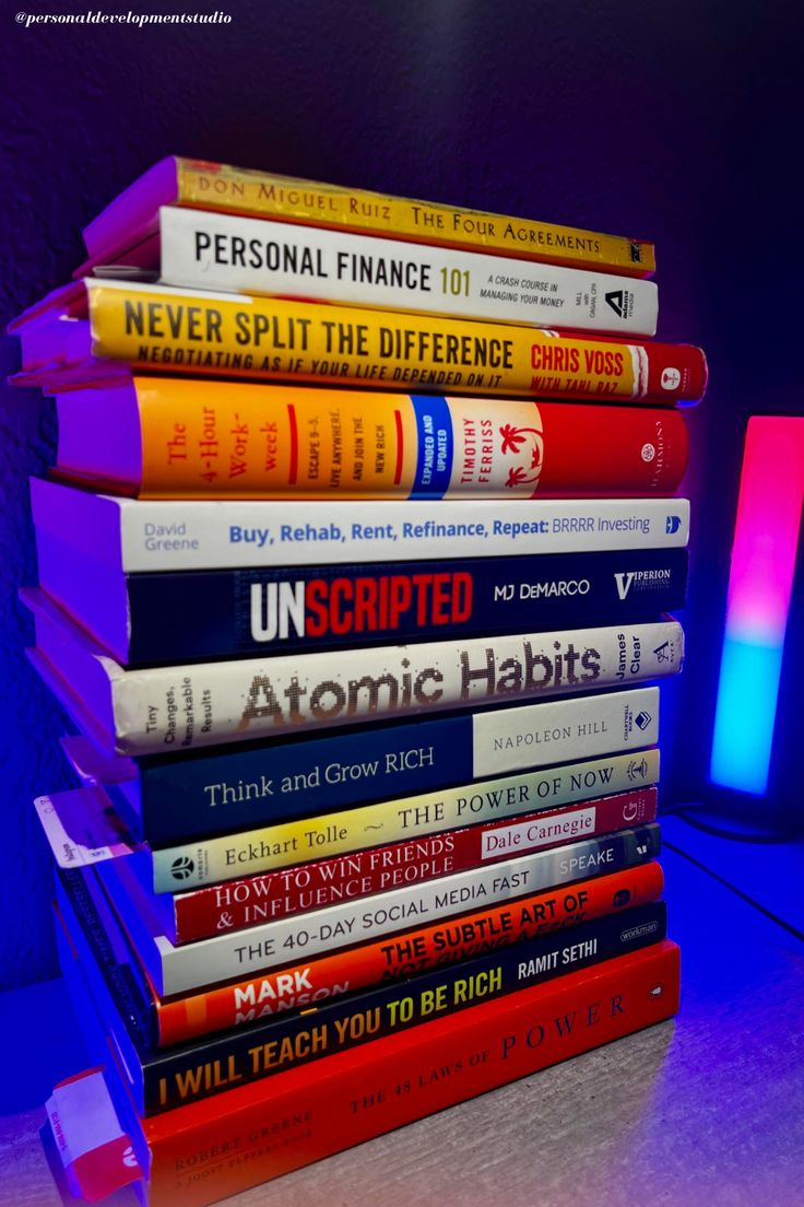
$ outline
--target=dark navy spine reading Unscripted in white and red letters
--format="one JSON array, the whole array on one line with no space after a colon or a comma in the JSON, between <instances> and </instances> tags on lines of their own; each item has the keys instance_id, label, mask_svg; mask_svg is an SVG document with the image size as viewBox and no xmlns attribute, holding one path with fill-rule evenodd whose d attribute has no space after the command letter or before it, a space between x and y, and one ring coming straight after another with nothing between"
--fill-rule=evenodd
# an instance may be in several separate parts
<instances>
[{"instance_id":1,"label":"dark navy spine reading Unscripted in white and red letters","mask_svg":"<svg viewBox=\"0 0 804 1207\"><path fill-rule=\"evenodd\" d=\"M650 620L686 587L686 549L129 575L128 665Z\"/></svg>"}]
</instances>

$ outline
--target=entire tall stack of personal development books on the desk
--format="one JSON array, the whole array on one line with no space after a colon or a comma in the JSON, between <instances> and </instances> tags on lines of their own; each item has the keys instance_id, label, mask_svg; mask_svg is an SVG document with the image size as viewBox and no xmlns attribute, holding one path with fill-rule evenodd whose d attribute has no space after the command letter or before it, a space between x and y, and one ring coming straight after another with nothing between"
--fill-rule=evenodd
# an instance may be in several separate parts
<instances>
[{"instance_id":1,"label":"entire tall stack of personal development books on the desk","mask_svg":"<svg viewBox=\"0 0 804 1207\"><path fill-rule=\"evenodd\" d=\"M72 1191L209 1203L671 1016L705 362L651 245L184 159L86 239L12 327Z\"/></svg>"}]
</instances>

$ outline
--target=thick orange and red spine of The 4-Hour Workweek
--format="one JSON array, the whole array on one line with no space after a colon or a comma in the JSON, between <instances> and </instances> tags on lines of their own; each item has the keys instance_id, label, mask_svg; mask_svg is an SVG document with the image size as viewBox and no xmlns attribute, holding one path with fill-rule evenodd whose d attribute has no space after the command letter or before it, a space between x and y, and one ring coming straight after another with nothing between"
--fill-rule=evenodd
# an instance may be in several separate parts
<instances>
[{"instance_id":1,"label":"thick orange and red spine of The 4-Hour Workweek","mask_svg":"<svg viewBox=\"0 0 804 1207\"><path fill-rule=\"evenodd\" d=\"M673 408L186 378L137 378L135 393L139 485L124 492L141 498L670 495L688 451L683 415ZM68 476L82 438L96 441L96 460L107 444L105 433L86 430L83 403L71 416L74 401L72 391L58 396Z\"/></svg>"}]
</instances>

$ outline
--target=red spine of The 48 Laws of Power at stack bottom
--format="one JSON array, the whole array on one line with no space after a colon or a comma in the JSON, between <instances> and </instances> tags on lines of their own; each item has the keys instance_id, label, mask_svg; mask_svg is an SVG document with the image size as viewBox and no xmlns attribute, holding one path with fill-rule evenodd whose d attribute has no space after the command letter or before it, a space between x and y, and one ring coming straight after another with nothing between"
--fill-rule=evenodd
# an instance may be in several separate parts
<instances>
[{"instance_id":1,"label":"red spine of The 48 Laws of Power at stack bottom","mask_svg":"<svg viewBox=\"0 0 804 1207\"><path fill-rule=\"evenodd\" d=\"M679 955L665 940L145 1120L149 1207L205 1207L669 1019Z\"/></svg>"}]
</instances>

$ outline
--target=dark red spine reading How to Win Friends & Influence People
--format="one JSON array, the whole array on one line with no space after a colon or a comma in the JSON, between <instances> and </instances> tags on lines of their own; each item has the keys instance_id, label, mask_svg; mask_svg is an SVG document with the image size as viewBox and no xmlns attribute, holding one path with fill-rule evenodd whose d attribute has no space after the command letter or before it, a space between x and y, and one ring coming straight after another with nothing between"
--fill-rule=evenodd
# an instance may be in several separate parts
<instances>
[{"instance_id":1,"label":"dark red spine reading How to Win Friends & Influence People","mask_svg":"<svg viewBox=\"0 0 804 1207\"><path fill-rule=\"evenodd\" d=\"M176 893L176 943L419 884L539 847L594 838L656 817L655 787L482 826L391 842L295 868Z\"/></svg>"}]
</instances>

